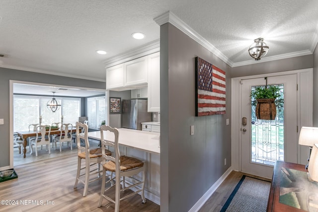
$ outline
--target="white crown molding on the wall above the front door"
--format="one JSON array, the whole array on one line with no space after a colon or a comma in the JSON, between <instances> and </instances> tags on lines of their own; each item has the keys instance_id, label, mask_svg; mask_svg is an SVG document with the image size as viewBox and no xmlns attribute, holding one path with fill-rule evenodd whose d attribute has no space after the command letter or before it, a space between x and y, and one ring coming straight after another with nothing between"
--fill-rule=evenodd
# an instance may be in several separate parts
<instances>
[{"instance_id":1,"label":"white crown molding on the wall above the front door","mask_svg":"<svg viewBox=\"0 0 318 212\"><path fill-rule=\"evenodd\" d=\"M239 67L239 66L258 64L258 63L265 63L265 62L270 62L270 61L277 61L277 60L282 60L282 59L287 59L287 58L294 58L294 57L305 56L305 55L311 55L311 54L313 54L313 53L310 50L304 50L304 51L300 51L300 52L292 52L292 53L262 58L259 61L250 60L250 61L242 61L242 62L234 63L232 68Z\"/></svg>"}]
</instances>

